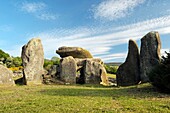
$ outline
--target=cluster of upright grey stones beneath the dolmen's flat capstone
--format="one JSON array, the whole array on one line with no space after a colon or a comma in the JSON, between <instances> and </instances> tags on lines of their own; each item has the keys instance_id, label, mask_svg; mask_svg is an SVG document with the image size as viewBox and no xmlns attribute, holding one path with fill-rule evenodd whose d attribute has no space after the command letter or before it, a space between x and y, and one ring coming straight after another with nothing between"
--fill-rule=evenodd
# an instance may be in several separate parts
<instances>
[{"instance_id":1,"label":"cluster of upright grey stones beneath the dolmen's flat capstone","mask_svg":"<svg viewBox=\"0 0 170 113\"><path fill-rule=\"evenodd\" d=\"M108 85L107 72L101 59L65 57L60 61L60 79L65 83Z\"/></svg>"}]
</instances>

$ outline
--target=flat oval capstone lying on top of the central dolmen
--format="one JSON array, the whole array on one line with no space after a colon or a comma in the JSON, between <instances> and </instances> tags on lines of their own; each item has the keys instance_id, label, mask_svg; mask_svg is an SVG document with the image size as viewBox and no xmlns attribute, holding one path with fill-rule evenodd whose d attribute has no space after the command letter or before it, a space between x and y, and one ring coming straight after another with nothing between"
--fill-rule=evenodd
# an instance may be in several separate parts
<instances>
[{"instance_id":1,"label":"flat oval capstone lying on top of the central dolmen","mask_svg":"<svg viewBox=\"0 0 170 113\"><path fill-rule=\"evenodd\" d=\"M91 53L80 47L60 47L56 50L56 53L60 55L61 58L72 56L73 58L93 58Z\"/></svg>"}]
</instances>

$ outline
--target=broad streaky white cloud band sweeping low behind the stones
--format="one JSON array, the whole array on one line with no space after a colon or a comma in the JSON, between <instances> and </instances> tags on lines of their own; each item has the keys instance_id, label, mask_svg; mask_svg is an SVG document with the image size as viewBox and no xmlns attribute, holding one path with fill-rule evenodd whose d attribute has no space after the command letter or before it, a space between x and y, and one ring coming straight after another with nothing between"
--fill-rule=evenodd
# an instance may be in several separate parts
<instances>
[{"instance_id":1,"label":"broad streaky white cloud band sweeping low behind the stones","mask_svg":"<svg viewBox=\"0 0 170 113\"><path fill-rule=\"evenodd\" d=\"M127 44L129 39L139 40L146 33L153 30L158 31L160 34L168 34L170 33L169 26L170 16L164 16L121 26L107 33L101 32L102 30L98 30L98 28L86 27L53 29L33 34L29 39L32 37L40 37L42 39L46 58L57 55L55 51L61 46L78 46L89 50L95 57L102 58L102 60L108 62L116 59L122 60L127 56L127 52L114 53L115 46ZM127 50L127 48L125 49ZM164 50L162 49L162 51Z\"/></svg>"}]
</instances>

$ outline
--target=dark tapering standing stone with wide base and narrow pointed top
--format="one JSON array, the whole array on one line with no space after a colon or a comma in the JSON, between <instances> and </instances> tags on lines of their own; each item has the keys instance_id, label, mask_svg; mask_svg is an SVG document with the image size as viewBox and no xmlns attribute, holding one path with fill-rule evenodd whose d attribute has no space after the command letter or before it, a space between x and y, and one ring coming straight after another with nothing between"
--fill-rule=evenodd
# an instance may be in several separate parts
<instances>
[{"instance_id":1,"label":"dark tapering standing stone with wide base and narrow pointed top","mask_svg":"<svg viewBox=\"0 0 170 113\"><path fill-rule=\"evenodd\" d=\"M135 85L140 80L139 50L135 41L129 40L126 61L121 64L116 73L118 86Z\"/></svg>"}]
</instances>

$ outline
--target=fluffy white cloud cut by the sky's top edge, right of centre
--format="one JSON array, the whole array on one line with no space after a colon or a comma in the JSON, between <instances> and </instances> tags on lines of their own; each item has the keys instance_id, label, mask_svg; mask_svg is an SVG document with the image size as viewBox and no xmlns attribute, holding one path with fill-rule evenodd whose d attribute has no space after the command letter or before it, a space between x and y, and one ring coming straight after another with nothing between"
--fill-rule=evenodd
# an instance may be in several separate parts
<instances>
[{"instance_id":1,"label":"fluffy white cloud cut by the sky's top edge, right of centre","mask_svg":"<svg viewBox=\"0 0 170 113\"><path fill-rule=\"evenodd\" d=\"M125 17L145 0L105 0L93 9L95 19L115 20Z\"/></svg>"}]
</instances>

